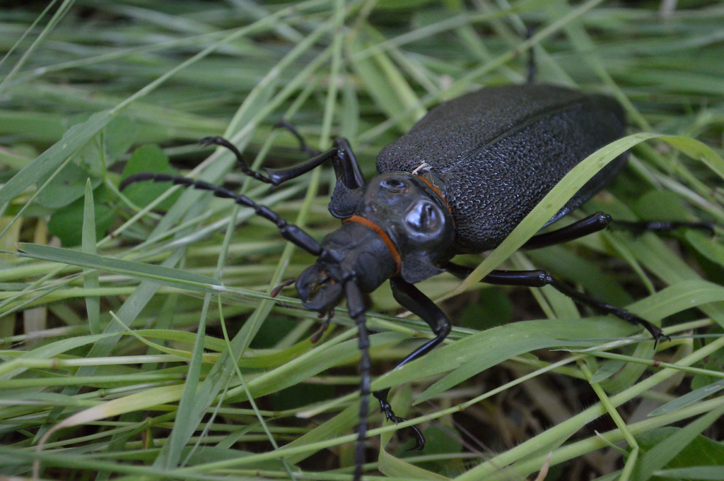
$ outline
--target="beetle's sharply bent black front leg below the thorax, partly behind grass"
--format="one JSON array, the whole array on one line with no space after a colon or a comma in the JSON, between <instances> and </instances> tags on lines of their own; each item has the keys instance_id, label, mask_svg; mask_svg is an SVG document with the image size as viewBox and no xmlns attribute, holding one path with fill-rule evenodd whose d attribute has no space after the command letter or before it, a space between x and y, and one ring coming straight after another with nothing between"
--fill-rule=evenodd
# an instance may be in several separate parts
<instances>
[{"instance_id":1,"label":"beetle's sharply bent black front leg below the thorax, partly behind grass","mask_svg":"<svg viewBox=\"0 0 724 481\"><path fill-rule=\"evenodd\" d=\"M403 359L403 362L397 365L397 367L402 367L414 359L423 357L432 351L435 346L442 343L450 333L451 325L445 313L413 284L405 281L400 276L395 276L390 279L390 286L392 287L392 295L395 297L395 300L399 302L402 307L405 307L405 309L410 310L413 314L418 315L424 320L435 334L434 339L430 339L415 349L408 357ZM395 369L397 369L397 367L395 367ZM374 397L379 399L379 407L382 412L384 412L384 417L386 417L388 421L395 423L405 421L403 418L395 416L395 413L392 412L392 406L390 406L390 402L387 401L388 393L390 393L390 388L380 389L373 393ZM411 451L420 451L425 446L424 436L414 426L409 427L408 430L415 437L416 441Z\"/></svg>"}]
</instances>

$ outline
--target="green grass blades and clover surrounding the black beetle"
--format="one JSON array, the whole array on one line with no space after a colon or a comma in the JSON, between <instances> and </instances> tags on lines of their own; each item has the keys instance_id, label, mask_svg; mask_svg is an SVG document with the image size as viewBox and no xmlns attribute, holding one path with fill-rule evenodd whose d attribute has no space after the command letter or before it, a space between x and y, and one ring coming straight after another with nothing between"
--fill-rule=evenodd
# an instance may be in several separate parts
<instances>
[{"instance_id":1,"label":"green grass blades and clover surrounding the black beetle","mask_svg":"<svg viewBox=\"0 0 724 481\"><path fill-rule=\"evenodd\" d=\"M631 148L629 166L576 216L712 221L721 234L723 17L704 1L10 2L0 12L0 474L30 477L36 461L47 479L349 479L353 323L340 309L311 344L316 316L291 291L269 295L312 257L228 200L160 184L119 192L121 179L225 184L321 239L338 226L329 167L269 192L230 153L195 142L224 135L254 169L289 166L306 156L273 129L285 119L313 148L348 138L369 178L376 153L428 108L524 82L532 48L540 82L613 95L628 112L631 136L610 148ZM576 192L571 182L552 202ZM395 316L387 288L373 294L373 388L400 386L396 411L429 445L404 451L374 412L368 473L715 479L720 241L605 231L515 252L545 220L536 210L486 260L471 256L481 267L463 284L425 281L464 323L384 376L429 329ZM672 341L654 346L557 291L477 282L500 263L548 269L662 320Z\"/></svg>"}]
</instances>

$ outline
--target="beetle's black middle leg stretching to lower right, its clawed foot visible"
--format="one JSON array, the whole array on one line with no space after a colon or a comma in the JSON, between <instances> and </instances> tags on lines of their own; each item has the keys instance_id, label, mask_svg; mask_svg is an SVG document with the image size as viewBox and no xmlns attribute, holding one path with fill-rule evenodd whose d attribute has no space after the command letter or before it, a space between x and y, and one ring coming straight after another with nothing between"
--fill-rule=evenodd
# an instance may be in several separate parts
<instances>
[{"instance_id":1,"label":"beetle's black middle leg stretching to lower right, its clawed foot visible","mask_svg":"<svg viewBox=\"0 0 724 481\"><path fill-rule=\"evenodd\" d=\"M473 271L473 268L450 262L446 263L443 267L453 276L460 278L466 278ZM604 314L613 314L617 318L626 320L633 325L641 325L642 327L646 328L649 333L651 333L651 336L654 338L654 341L656 341L656 343L658 343L659 340L662 338L668 339L669 341L671 340L670 337L661 330L661 328L659 328L657 325L650 323L648 320L640 318L638 315L633 314L633 312L628 312L627 310L620 307L606 304L605 302L601 302L598 299L594 299L593 297L590 297L586 294L582 294L581 292L576 291L576 289L573 289L573 287L568 286L568 284L565 284L564 282L559 281L557 278L551 276L546 271L496 270L492 271L487 276L482 278L481 282L485 282L487 284L496 284L499 286L552 286L560 293L571 297L571 299L578 302L578 304L584 305L586 307L591 307L592 309L595 309Z\"/></svg>"}]
</instances>

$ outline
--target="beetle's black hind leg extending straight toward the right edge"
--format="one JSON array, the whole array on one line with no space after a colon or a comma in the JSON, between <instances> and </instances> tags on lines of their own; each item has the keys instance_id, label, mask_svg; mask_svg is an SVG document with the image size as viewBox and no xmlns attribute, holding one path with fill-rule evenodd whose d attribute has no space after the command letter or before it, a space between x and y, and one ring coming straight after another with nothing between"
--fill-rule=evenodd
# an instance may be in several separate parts
<instances>
[{"instance_id":1,"label":"beetle's black hind leg extending straight toward the right edge","mask_svg":"<svg viewBox=\"0 0 724 481\"><path fill-rule=\"evenodd\" d=\"M700 229L714 235L714 224L712 222L675 222L675 221L615 221L607 213L597 212L592 216L574 222L569 226L562 227L555 231L538 234L531 237L528 242L523 244L522 249L539 249L562 242L568 242L579 237L602 231L608 226L625 229L633 234L643 234L646 231L665 232L688 227L689 229Z\"/></svg>"}]
</instances>

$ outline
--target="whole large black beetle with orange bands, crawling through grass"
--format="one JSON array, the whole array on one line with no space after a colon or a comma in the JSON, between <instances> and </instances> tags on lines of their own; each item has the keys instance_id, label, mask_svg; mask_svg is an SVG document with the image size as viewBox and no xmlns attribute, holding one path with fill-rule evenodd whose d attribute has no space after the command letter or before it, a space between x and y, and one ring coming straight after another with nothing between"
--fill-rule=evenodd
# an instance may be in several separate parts
<instances>
[{"instance_id":1,"label":"whole large black beetle with orange bands, crawling through grass","mask_svg":"<svg viewBox=\"0 0 724 481\"><path fill-rule=\"evenodd\" d=\"M552 85L510 85L485 88L441 103L377 157L379 175L365 182L348 142L335 140L334 148L290 169L264 169L266 175L246 166L239 151L221 137L201 142L232 150L240 169L255 179L276 186L300 176L325 161L332 161L337 185L329 203L332 216L342 219L340 229L321 244L298 226L287 224L277 213L244 195L181 176L136 174L132 182L173 182L211 190L240 205L254 208L276 224L282 237L318 256L315 264L297 279L303 305L331 316L334 307L347 301L350 317L359 328L361 349L361 406L355 475L359 480L364 461L370 393L369 340L363 294L390 279L397 302L432 328L434 339L408 355L406 364L430 352L450 333L450 320L413 284L444 271L458 277L472 269L450 262L460 253L497 247L540 200L574 166L595 150L623 136L626 116L613 98L581 93ZM292 131L293 132L293 131ZM610 182L626 163L623 154L599 171L548 224L578 208ZM605 213L570 226L532 237L524 248L544 247L605 229L612 222ZM626 223L621 223L626 224ZM636 223L634 229L668 230L708 224ZM552 278L544 271L492 271L489 284L541 287L551 285L577 302L642 325L658 341L666 337L656 325L626 310L598 302ZM329 322L329 320L327 320ZM387 402L389 388L376 391L387 420L401 422ZM424 437L415 427L415 448Z\"/></svg>"}]
</instances>

